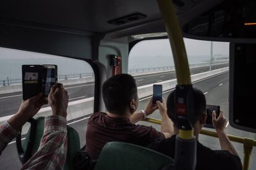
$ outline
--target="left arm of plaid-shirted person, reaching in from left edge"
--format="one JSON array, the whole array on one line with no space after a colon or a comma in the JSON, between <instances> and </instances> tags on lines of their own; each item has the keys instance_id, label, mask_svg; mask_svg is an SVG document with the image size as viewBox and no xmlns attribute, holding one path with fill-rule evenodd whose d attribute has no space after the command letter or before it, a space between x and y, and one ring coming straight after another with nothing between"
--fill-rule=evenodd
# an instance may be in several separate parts
<instances>
[{"instance_id":1,"label":"left arm of plaid-shirted person, reaching in from left edge","mask_svg":"<svg viewBox=\"0 0 256 170\"><path fill-rule=\"evenodd\" d=\"M32 118L45 103L45 100L41 97L42 94L38 94L23 101L19 111L0 126L0 155L7 144L20 133L19 131L23 124L25 124L28 119Z\"/></svg>"}]
</instances>

